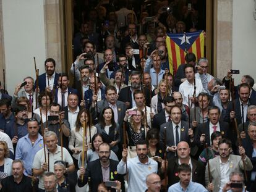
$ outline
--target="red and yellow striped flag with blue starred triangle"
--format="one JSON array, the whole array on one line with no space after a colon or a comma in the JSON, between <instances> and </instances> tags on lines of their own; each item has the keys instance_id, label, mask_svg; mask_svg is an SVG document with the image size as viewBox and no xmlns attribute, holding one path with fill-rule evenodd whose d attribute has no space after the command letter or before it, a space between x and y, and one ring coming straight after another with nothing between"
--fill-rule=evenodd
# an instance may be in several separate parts
<instances>
[{"instance_id":1,"label":"red and yellow striped flag with blue starred triangle","mask_svg":"<svg viewBox=\"0 0 256 192\"><path fill-rule=\"evenodd\" d=\"M179 65L186 63L186 49L187 52L193 52L197 60L204 57L205 38L202 30L192 33L167 33L166 35L169 69L172 74L177 72Z\"/></svg>"}]
</instances>

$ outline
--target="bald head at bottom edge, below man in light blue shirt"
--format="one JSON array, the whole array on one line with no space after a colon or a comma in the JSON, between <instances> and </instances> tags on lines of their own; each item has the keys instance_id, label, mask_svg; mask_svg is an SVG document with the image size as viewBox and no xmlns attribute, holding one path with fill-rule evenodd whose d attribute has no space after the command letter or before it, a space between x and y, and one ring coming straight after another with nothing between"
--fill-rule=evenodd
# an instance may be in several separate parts
<instances>
[{"instance_id":1,"label":"bald head at bottom edge, below man in light blue shirt","mask_svg":"<svg viewBox=\"0 0 256 192\"><path fill-rule=\"evenodd\" d=\"M147 192L160 192L161 178L156 173L151 173L146 177Z\"/></svg>"}]
</instances>

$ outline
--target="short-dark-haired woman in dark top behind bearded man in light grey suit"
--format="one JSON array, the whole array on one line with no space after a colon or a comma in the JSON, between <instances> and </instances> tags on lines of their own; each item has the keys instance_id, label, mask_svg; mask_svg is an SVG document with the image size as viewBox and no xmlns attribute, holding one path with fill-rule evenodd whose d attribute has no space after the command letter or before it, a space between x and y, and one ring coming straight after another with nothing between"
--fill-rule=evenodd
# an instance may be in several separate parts
<instances>
[{"instance_id":1,"label":"short-dark-haired woman in dark top behind bearded man in light grey suit","mask_svg":"<svg viewBox=\"0 0 256 192\"><path fill-rule=\"evenodd\" d=\"M208 159L213 159L216 156L220 156L218 143L221 140L221 138L222 135L220 131L213 132L211 134L211 146L208 146L208 148L203 149L202 153L198 158L198 161L203 162L203 164L206 165Z\"/></svg>"}]
</instances>

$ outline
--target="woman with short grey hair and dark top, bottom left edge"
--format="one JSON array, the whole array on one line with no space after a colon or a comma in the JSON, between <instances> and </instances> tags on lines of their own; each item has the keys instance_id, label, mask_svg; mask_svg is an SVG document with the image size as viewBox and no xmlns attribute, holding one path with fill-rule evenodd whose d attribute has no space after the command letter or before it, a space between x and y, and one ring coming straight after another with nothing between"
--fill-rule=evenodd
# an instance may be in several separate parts
<instances>
[{"instance_id":1,"label":"woman with short grey hair and dark top, bottom left edge","mask_svg":"<svg viewBox=\"0 0 256 192\"><path fill-rule=\"evenodd\" d=\"M64 161L54 162L54 173L57 177L58 191L75 192L76 183L73 181L76 182L76 180L70 180L69 177L65 175L66 172L66 164Z\"/></svg>"}]
</instances>

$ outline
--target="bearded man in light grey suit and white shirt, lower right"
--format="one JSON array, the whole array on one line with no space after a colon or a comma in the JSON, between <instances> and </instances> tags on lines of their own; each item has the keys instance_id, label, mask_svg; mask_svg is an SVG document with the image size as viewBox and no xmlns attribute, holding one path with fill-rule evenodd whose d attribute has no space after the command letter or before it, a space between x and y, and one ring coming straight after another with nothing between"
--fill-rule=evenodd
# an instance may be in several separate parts
<instances>
[{"instance_id":1,"label":"bearded man in light grey suit and white shirt, lower right","mask_svg":"<svg viewBox=\"0 0 256 192\"><path fill-rule=\"evenodd\" d=\"M239 146L239 154L241 156L236 156L231 154L232 143L228 139L222 139L219 141L219 151L220 156L216 156L209 160L205 172L205 184L210 183L208 165L210 165L210 175L212 178L211 183L213 183L213 192L218 192L223 189L226 183L229 182L229 175L234 170L252 170L252 162L250 162L249 157L245 155L245 149ZM244 165L242 162L244 159ZM245 167L244 167L245 166Z\"/></svg>"}]
</instances>

